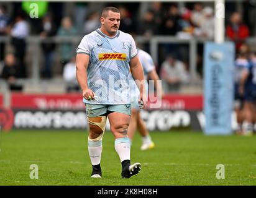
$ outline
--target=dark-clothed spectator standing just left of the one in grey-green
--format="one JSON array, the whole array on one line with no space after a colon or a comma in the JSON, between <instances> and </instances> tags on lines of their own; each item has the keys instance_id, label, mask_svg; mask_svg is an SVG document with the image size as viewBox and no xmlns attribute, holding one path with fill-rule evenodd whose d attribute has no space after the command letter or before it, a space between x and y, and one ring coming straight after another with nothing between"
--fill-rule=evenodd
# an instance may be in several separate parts
<instances>
[{"instance_id":1,"label":"dark-clothed spectator standing just left of the one in grey-green","mask_svg":"<svg viewBox=\"0 0 256 198\"><path fill-rule=\"evenodd\" d=\"M55 24L52 23L52 18L50 17L50 15L45 15L45 17L43 17L40 29L41 38L52 37L57 32L57 28L55 27ZM44 56L44 64L41 72L42 77L50 79L52 78L52 63L54 58L55 43L43 42L42 49Z\"/></svg>"}]
</instances>

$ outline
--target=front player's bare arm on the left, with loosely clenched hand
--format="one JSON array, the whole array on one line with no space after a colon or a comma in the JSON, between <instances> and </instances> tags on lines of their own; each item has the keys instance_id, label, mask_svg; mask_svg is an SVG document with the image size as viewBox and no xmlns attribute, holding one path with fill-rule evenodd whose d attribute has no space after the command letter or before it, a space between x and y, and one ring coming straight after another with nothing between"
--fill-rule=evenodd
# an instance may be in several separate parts
<instances>
[{"instance_id":1,"label":"front player's bare arm on the left, with loosely clenched hand","mask_svg":"<svg viewBox=\"0 0 256 198\"><path fill-rule=\"evenodd\" d=\"M89 97L94 98L94 93L89 89L87 83L87 68L89 65L89 55L77 54L76 55L76 79L83 91L83 97L89 100Z\"/></svg>"}]
</instances>

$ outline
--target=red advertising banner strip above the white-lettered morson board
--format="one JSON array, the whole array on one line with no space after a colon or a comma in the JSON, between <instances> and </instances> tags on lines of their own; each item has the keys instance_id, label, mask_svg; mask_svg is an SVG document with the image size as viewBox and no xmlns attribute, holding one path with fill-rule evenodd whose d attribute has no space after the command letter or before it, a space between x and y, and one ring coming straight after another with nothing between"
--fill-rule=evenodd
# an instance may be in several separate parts
<instances>
[{"instance_id":1,"label":"red advertising banner strip above the white-lettered morson board","mask_svg":"<svg viewBox=\"0 0 256 198\"><path fill-rule=\"evenodd\" d=\"M149 105L148 105L149 106ZM39 110L83 110L80 93L68 94L22 94L12 93L11 108ZM160 109L203 110L202 95L165 95Z\"/></svg>"}]
</instances>

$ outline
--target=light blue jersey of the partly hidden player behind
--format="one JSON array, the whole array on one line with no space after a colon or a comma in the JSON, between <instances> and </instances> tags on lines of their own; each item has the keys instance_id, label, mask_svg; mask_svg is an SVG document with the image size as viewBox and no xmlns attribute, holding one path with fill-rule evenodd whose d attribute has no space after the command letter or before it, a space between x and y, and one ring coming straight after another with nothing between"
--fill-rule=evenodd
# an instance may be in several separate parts
<instances>
[{"instance_id":1,"label":"light blue jersey of the partly hidden player behind","mask_svg":"<svg viewBox=\"0 0 256 198\"><path fill-rule=\"evenodd\" d=\"M140 62L143 67L144 71L144 78L145 78L145 92L148 94L149 92L149 85L147 83L147 77L149 75L149 72L151 72L153 69L155 69L155 64L153 62L152 57L149 53L145 52L142 49L138 49L138 56L140 59ZM130 86L130 101L139 101L140 91L137 85L135 84L135 81L132 77L132 73L129 73L129 86Z\"/></svg>"}]
</instances>

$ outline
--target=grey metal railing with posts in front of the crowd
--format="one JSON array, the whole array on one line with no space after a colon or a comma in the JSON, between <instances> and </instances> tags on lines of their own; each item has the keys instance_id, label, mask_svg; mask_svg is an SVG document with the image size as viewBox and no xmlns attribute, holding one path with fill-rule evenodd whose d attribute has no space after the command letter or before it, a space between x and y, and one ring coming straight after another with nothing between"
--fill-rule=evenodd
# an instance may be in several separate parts
<instances>
[{"instance_id":1,"label":"grey metal railing with posts in front of the crowd","mask_svg":"<svg viewBox=\"0 0 256 198\"><path fill-rule=\"evenodd\" d=\"M31 69L30 76L28 79L24 80L32 80L33 82L40 81L40 59L42 59L42 54L40 53L40 45L42 43L71 43L73 48L75 49L81 41L82 36L76 37L49 37L49 38L41 38L37 36L32 36L27 38L27 46L30 50L27 50L27 59L29 59ZM196 51L198 43L203 43L206 40L198 40L198 39L180 39L176 37L166 37L166 36L155 36L151 38L145 37L136 37L137 43L148 44L149 45L149 53L152 55L153 60L158 62L158 48L162 43L176 43L176 44L187 44L189 51L189 72L190 76L193 79L196 76ZM10 37L0 37L1 43L9 44L11 42ZM23 80L23 81L24 81Z\"/></svg>"}]
</instances>

